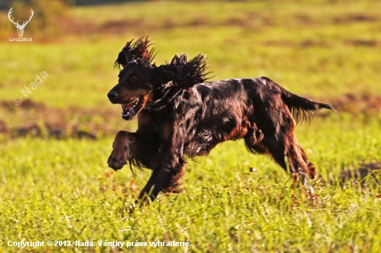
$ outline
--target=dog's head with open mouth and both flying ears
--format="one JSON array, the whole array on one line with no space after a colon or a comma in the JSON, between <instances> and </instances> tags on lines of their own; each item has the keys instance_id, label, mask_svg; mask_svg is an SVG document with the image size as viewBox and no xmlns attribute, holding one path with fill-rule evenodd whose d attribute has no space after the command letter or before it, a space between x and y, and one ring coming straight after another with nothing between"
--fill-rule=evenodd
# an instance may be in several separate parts
<instances>
[{"instance_id":1,"label":"dog's head with open mouth and both flying ears","mask_svg":"<svg viewBox=\"0 0 381 253\"><path fill-rule=\"evenodd\" d=\"M158 91L163 84L171 82L172 86L190 88L204 82L208 74L204 55L197 55L189 62L185 54L175 55L170 63L156 66L151 63L153 54L148 50L149 44L141 46L148 40L141 41L139 44L136 41L132 47L130 41L127 49L123 48L125 51L119 53L115 66L123 66L123 69L118 75L118 84L107 94L110 102L122 105L124 120L132 120L145 105L154 103L153 91Z\"/></svg>"}]
</instances>

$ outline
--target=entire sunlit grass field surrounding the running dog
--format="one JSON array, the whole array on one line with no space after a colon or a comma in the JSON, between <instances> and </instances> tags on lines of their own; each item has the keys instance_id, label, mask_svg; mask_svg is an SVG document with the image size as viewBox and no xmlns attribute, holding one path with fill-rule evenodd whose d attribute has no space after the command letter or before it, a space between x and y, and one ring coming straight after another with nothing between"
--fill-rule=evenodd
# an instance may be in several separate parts
<instances>
[{"instance_id":1,"label":"entire sunlit grass field surrounding the running dog","mask_svg":"<svg viewBox=\"0 0 381 253\"><path fill-rule=\"evenodd\" d=\"M8 42L15 29L1 25L0 252L380 252L380 9L380 1L73 7L56 37L40 34L31 21L29 44ZM0 14L2 21L6 12ZM113 133L133 130L136 122L123 121L106 94L117 81L118 51L143 32L157 43L159 64L175 53L205 53L212 79L265 75L299 95L346 104L297 129L321 177L311 187L292 187L272 160L249 154L241 141L228 142L188 161L184 194L160 196L128 213L150 171L107 168ZM49 76L24 97L20 89L42 71ZM364 109L345 103L346 93L367 97L360 101ZM15 95L24 100L20 106L11 102ZM41 127L40 137L12 135L31 124ZM68 133L55 140L45 124L76 125L97 139ZM374 170L341 181L360 167ZM37 240L96 247L8 246ZM191 246L150 246L157 241Z\"/></svg>"}]
</instances>

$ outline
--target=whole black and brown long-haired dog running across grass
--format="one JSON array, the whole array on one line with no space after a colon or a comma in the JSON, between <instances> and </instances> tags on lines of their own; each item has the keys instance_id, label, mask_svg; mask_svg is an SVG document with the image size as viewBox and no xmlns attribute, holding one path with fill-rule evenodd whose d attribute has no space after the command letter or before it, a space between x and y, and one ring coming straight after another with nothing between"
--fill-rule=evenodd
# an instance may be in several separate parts
<instances>
[{"instance_id":1,"label":"whole black and brown long-haired dog running across grass","mask_svg":"<svg viewBox=\"0 0 381 253\"><path fill-rule=\"evenodd\" d=\"M108 165L117 170L129 161L152 169L140 199L181 191L184 156L207 156L218 143L241 138L249 151L271 155L287 171L286 153L296 180L315 177L294 128L332 106L294 95L267 77L205 82L204 56L187 61L183 54L156 66L148 46L148 37L127 43L115 62L123 66L118 84L107 94L121 104L123 119L138 115L135 133L116 134Z\"/></svg>"}]
</instances>

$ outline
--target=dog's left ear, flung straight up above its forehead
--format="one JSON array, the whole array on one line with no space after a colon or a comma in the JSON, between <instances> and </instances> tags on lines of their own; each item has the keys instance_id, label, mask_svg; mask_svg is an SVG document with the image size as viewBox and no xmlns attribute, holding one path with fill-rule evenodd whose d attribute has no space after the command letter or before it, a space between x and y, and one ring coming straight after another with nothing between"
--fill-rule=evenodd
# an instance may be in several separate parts
<instances>
[{"instance_id":1,"label":"dog's left ear, flung straight up above its forehead","mask_svg":"<svg viewBox=\"0 0 381 253\"><path fill-rule=\"evenodd\" d=\"M125 44L121 52L118 54L118 58L114 62L114 68L121 68L126 66L128 62L132 62L136 59L147 59L149 62L154 59L156 53L154 49L149 47L153 44L150 43L148 36L142 36L134 42L134 39Z\"/></svg>"}]
</instances>

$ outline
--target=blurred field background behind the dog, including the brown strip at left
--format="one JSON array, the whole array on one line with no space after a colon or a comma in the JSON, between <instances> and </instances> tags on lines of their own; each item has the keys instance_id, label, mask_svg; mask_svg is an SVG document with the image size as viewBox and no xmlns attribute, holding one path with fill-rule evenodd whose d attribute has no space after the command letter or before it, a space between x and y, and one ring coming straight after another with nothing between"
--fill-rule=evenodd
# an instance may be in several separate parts
<instances>
[{"instance_id":1,"label":"blurred field background behind the dog, including the brown strip at left","mask_svg":"<svg viewBox=\"0 0 381 253\"><path fill-rule=\"evenodd\" d=\"M11 7L19 24L33 9L23 35L32 42L10 41L18 37ZM157 44L157 64L204 53L212 79L264 75L332 104L336 120L380 122L380 10L380 1L361 0L1 0L0 138L96 139L134 129L106 95L119 50L141 35ZM42 71L48 77L25 97L21 89Z\"/></svg>"}]
</instances>

